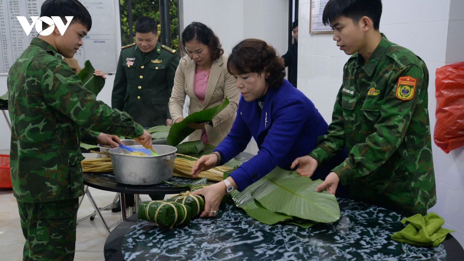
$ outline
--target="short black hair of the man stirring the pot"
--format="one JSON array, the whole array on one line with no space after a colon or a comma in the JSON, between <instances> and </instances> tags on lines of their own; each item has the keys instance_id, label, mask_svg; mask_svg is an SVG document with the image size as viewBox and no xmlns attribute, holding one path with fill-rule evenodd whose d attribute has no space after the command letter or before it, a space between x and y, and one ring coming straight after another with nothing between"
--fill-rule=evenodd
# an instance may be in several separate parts
<instances>
[{"instance_id":1,"label":"short black hair of the man stirring the pot","mask_svg":"<svg viewBox=\"0 0 464 261\"><path fill-rule=\"evenodd\" d=\"M66 24L65 16L73 16L71 23L80 23L90 31L92 17L89 11L78 0L46 0L40 7L40 17L59 16Z\"/></svg>"}]
</instances>

